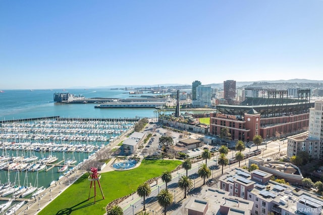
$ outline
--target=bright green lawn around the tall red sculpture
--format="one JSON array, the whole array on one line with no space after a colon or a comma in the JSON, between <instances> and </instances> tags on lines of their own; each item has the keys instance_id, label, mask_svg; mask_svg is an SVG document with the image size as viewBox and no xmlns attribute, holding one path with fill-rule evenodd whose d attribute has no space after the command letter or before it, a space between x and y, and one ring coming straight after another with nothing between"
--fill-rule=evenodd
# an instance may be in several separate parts
<instances>
[{"instance_id":1,"label":"bright green lawn around the tall red sculpture","mask_svg":"<svg viewBox=\"0 0 323 215\"><path fill-rule=\"evenodd\" d=\"M143 160L141 165L133 170L103 173L100 184L105 199L102 199L97 186L95 204L93 204L93 187L92 198L87 200L90 181L87 180L87 174L85 174L38 214L104 214L105 206L109 202L132 193L132 190L137 190L139 184L160 176L165 170L174 170L180 164L182 162L179 160Z\"/></svg>"}]
</instances>

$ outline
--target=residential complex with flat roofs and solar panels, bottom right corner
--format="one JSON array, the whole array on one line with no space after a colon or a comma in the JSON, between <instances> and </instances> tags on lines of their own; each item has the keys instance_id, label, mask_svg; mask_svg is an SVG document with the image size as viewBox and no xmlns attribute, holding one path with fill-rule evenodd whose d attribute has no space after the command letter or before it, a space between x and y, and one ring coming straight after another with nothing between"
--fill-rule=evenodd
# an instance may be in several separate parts
<instances>
[{"instance_id":1,"label":"residential complex with flat roofs and solar panels, bottom right corner","mask_svg":"<svg viewBox=\"0 0 323 215\"><path fill-rule=\"evenodd\" d=\"M253 202L251 214L321 214L322 199L305 190L272 181L272 176L261 170L249 173L235 168L220 177L220 188L229 195Z\"/></svg>"}]
</instances>

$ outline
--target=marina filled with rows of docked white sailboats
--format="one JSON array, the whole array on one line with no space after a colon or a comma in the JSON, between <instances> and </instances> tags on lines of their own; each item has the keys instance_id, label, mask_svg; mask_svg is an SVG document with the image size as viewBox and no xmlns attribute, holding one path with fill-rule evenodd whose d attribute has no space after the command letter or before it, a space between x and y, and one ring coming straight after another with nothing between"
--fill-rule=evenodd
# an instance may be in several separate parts
<instances>
[{"instance_id":1,"label":"marina filled with rows of docked white sailboats","mask_svg":"<svg viewBox=\"0 0 323 215\"><path fill-rule=\"evenodd\" d=\"M0 205L13 198L25 201L60 183L135 122L67 118L1 122Z\"/></svg>"}]
</instances>

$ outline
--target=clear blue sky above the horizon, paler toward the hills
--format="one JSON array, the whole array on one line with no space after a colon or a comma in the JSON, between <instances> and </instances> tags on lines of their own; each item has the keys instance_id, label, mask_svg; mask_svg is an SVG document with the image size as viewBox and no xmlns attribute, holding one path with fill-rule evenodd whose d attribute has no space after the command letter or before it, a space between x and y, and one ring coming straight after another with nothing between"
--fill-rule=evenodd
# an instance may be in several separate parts
<instances>
[{"instance_id":1,"label":"clear blue sky above the horizon, paler toward the hills","mask_svg":"<svg viewBox=\"0 0 323 215\"><path fill-rule=\"evenodd\" d=\"M0 1L0 89L323 80L323 1Z\"/></svg>"}]
</instances>

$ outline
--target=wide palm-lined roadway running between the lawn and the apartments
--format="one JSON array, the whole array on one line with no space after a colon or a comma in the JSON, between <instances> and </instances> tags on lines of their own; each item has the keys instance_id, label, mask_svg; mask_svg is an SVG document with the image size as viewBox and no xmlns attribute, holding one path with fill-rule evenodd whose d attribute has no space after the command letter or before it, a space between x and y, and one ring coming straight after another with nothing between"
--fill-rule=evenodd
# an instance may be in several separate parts
<instances>
[{"instance_id":1,"label":"wide palm-lined roadway running between the lawn and the apartments","mask_svg":"<svg viewBox=\"0 0 323 215\"><path fill-rule=\"evenodd\" d=\"M286 152L287 144L286 141L274 141L267 143L267 149L265 149L265 145L258 146L259 149L262 150L261 154L258 154L257 156L263 157L263 158L273 158L275 154L280 150L281 153ZM248 152L249 150L255 150L256 146L252 148L247 148L244 152ZM234 151L233 151L234 152ZM230 158L230 152L228 154L228 158ZM248 159L248 158L247 158ZM240 166L244 166L247 164L247 159L244 159L240 162ZM189 192L189 194L194 194L196 192L202 192L202 189L200 189L200 186L203 184L203 179L198 177L197 170L199 169L199 165L205 163L205 160L201 160L197 163L192 164L192 169L188 171L188 175L191 179L193 179L193 189ZM211 170L211 177L209 179L214 180L214 182L217 182L215 180L216 178L221 176L222 167L217 166L217 155L211 157L207 161L207 166ZM224 172L228 171L232 168L237 168L239 166L238 163L235 163L233 165L228 165L224 167ZM178 180L181 176L186 175L186 171L184 169L180 169L176 172L172 173L172 181L168 183L168 189L171 190L174 198L175 203L170 205L167 214L180 214L180 210L183 208L180 207L182 205L182 201L184 198L184 192L178 188ZM207 179L206 181L208 181ZM214 185L214 186L217 186ZM165 189L165 183L158 179L157 182L153 182L150 184L151 187L151 193L148 197L146 197L146 209L147 211L152 212L152 214L161 214L163 213L163 208L161 208L157 202L157 194L161 189ZM126 198L123 202L119 204L124 211L124 214L136 214L137 212L141 211L143 209L143 198L139 197L137 193L134 193L133 195Z\"/></svg>"}]
</instances>

